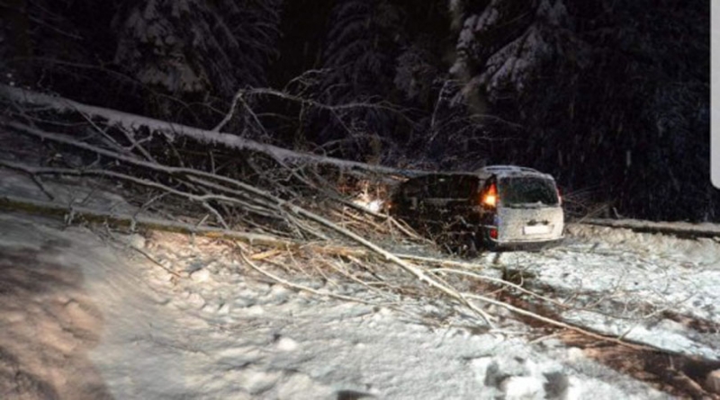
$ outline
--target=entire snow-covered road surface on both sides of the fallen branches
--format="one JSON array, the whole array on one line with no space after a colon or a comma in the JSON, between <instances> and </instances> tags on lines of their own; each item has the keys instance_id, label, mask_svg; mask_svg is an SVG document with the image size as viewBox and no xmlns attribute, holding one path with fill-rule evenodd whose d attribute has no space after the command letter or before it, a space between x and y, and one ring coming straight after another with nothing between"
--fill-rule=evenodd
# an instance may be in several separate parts
<instances>
[{"instance_id":1,"label":"entire snow-covered road surface on both sides of the fallen branches","mask_svg":"<svg viewBox=\"0 0 720 400\"><path fill-rule=\"evenodd\" d=\"M716 242L574 229L559 248L488 253L477 263L524 271L572 304L600 297L605 311L626 305L630 319L565 315L601 331L625 332L666 308L701 318L710 324L704 333L651 316L628 337L717 358ZM202 239L117 236L0 214L0 261L20 288L0 286L0 398L671 397L588 350L553 336L531 341L524 324L480 333L298 293ZM23 289L40 276L58 283ZM345 293L363 298L365 290L348 284Z\"/></svg>"}]
</instances>

